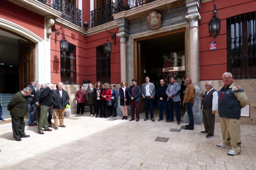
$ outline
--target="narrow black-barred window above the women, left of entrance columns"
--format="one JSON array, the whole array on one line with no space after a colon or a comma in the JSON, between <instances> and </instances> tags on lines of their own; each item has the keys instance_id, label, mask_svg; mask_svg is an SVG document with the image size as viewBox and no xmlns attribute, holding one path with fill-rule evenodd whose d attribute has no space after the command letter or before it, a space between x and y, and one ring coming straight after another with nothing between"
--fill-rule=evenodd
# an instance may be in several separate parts
<instances>
[{"instance_id":1,"label":"narrow black-barred window above the women, left of entrance columns","mask_svg":"<svg viewBox=\"0 0 256 170\"><path fill-rule=\"evenodd\" d=\"M110 54L103 52L103 45L96 47L97 81L110 82Z\"/></svg>"}]
</instances>

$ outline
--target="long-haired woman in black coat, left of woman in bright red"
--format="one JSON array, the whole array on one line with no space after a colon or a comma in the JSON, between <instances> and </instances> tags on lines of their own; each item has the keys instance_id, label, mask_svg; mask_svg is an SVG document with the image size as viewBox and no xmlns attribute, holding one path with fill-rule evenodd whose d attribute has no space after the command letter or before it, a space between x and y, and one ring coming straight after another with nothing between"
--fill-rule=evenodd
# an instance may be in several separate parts
<instances>
[{"instance_id":1,"label":"long-haired woman in black coat, left of woman in bright red","mask_svg":"<svg viewBox=\"0 0 256 170\"><path fill-rule=\"evenodd\" d=\"M99 117L101 118L102 116L102 100L101 100L101 93L102 93L102 85L101 82L97 82L97 87L94 88L94 98L95 98L95 111L94 113L96 114L96 118L98 117L99 110L100 110L100 115Z\"/></svg>"}]
</instances>

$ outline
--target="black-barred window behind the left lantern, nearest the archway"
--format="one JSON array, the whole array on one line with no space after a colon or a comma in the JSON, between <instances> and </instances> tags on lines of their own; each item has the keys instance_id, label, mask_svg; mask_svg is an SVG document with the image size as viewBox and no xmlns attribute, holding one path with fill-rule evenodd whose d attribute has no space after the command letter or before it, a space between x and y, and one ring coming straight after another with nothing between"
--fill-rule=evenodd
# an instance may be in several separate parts
<instances>
[{"instance_id":1,"label":"black-barred window behind the left lantern, nearest the archway","mask_svg":"<svg viewBox=\"0 0 256 170\"><path fill-rule=\"evenodd\" d=\"M68 43L68 51L61 52L61 82L76 84L76 46Z\"/></svg>"}]
</instances>

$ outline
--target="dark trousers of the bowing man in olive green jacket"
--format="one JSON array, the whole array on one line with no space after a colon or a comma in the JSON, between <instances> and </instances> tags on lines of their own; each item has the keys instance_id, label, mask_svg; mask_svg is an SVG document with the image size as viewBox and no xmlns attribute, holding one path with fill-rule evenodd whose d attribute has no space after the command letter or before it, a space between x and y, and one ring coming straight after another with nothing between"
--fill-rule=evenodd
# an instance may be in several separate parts
<instances>
[{"instance_id":1,"label":"dark trousers of the bowing man in olive green jacket","mask_svg":"<svg viewBox=\"0 0 256 170\"><path fill-rule=\"evenodd\" d=\"M12 133L14 138L25 135L24 117L12 116Z\"/></svg>"}]
</instances>

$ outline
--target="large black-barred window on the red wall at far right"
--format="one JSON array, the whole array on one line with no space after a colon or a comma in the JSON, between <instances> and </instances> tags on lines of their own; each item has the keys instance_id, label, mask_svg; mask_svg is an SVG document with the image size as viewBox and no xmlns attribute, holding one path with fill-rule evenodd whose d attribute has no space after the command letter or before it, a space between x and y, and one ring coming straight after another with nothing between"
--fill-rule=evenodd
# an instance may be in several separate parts
<instances>
[{"instance_id":1,"label":"large black-barred window on the red wall at far right","mask_svg":"<svg viewBox=\"0 0 256 170\"><path fill-rule=\"evenodd\" d=\"M227 19L227 71L234 79L256 78L256 12Z\"/></svg>"}]
</instances>

